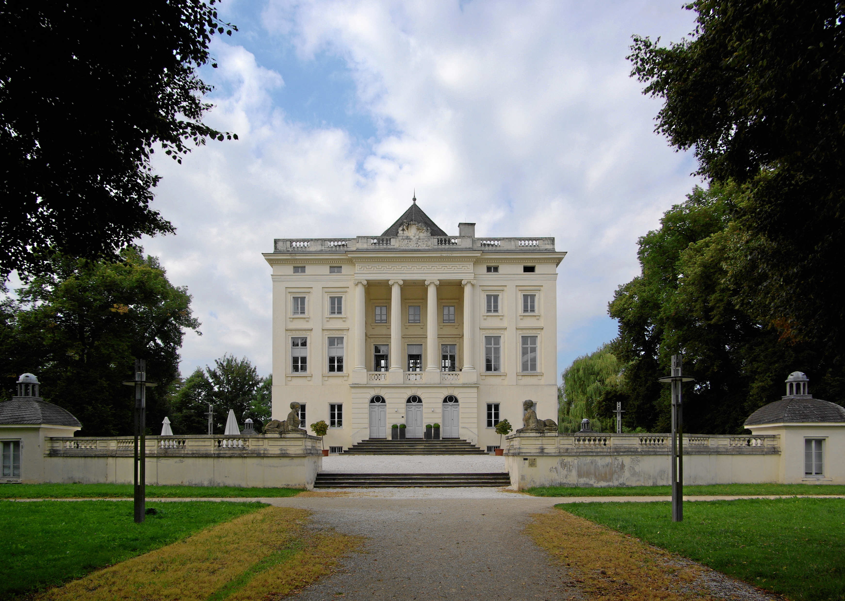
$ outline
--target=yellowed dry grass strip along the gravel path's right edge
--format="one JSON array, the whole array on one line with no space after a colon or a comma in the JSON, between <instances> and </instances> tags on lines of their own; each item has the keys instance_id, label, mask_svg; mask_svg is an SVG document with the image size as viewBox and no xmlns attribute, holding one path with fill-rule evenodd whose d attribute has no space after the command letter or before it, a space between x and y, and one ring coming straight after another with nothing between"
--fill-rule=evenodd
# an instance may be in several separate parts
<instances>
[{"instance_id":1,"label":"yellowed dry grass strip along the gravel path's right edge","mask_svg":"<svg viewBox=\"0 0 845 601\"><path fill-rule=\"evenodd\" d=\"M566 511L532 516L526 533L577 576L581 587L597 601L673 601L709 599L690 592L699 576L695 567L671 565L671 555Z\"/></svg>"}]
</instances>

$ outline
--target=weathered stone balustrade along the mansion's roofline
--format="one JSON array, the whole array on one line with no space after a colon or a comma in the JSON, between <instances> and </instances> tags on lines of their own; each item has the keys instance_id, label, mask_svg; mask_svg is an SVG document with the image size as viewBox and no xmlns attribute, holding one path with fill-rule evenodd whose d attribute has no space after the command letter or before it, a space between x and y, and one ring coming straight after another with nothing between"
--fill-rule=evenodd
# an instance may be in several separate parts
<instances>
[{"instance_id":1,"label":"weathered stone balustrade along the mansion's roofline","mask_svg":"<svg viewBox=\"0 0 845 601\"><path fill-rule=\"evenodd\" d=\"M345 253L361 250L474 250L554 252L554 238L472 238L469 236L358 236L357 238L276 238L274 253Z\"/></svg>"}]
</instances>

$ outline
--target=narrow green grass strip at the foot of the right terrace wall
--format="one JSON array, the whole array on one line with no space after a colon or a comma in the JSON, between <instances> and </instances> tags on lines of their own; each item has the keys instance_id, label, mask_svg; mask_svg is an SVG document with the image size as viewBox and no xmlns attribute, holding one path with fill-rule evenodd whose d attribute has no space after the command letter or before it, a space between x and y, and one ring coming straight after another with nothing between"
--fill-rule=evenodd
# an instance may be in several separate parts
<instances>
[{"instance_id":1,"label":"narrow green grass strip at the foot of the right terrace wall","mask_svg":"<svg viewBox=\"0 0 845 601\"><path fill-rule=\"evenodd\" d=\"M669 486L537 486L523 493L537 497L633 497L671 496ZM842 484L708 484L684 486L684 496L705 494L845 494Z\"/></svg>"}]
</instances>

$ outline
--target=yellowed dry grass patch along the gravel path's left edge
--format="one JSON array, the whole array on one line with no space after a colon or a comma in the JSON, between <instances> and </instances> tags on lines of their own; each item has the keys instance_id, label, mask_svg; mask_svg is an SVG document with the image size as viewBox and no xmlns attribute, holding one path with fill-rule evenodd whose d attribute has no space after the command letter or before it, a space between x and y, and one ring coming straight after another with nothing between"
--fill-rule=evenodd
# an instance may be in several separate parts
<instances>
[{"instance_id":1,"label":"yellowed dry grass patch along the gravel path's left edge","mask_svg":"<svg viewBox=\"0 0 845 601\"><path fill-rule=\"evenodd\" d=\"M146 555L54 588L42 598L99 599L275 598L330 571L335 558L360 541L311 533L308 511L266 507Z\"/></svg>"}]
</instances>

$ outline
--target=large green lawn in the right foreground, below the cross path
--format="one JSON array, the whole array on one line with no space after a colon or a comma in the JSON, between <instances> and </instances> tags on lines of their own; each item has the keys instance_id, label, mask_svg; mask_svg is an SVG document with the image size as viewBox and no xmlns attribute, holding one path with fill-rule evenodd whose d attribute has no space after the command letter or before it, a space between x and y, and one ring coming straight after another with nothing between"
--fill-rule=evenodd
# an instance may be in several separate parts
<instances>
[{"instance_id":1,"label":"large green lawn in the right foreground, below the cross path","mask_svg":"<svg viewBox=\"0 0 845 601\"><path fill-rule=\"evenodd\" d=\"M555 505L798 601L845 599L845 499Z\"/></svg>"}]
</instances>

